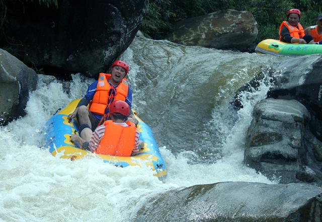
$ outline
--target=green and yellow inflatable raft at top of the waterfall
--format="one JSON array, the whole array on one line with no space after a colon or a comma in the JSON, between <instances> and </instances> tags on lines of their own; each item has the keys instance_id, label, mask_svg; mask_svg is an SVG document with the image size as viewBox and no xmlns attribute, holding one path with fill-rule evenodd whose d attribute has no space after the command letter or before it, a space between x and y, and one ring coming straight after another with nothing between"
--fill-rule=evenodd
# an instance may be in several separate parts
<instances>
[{"instance_id":1,"label":"green and yellow inflatable raft at top of the waterfall","mask_svg":"<svg viewBox=\"0 0 322 222\"><path fill-rule=\"evenodd\" d=\"M276 39L265 39L258 43L255 52L279 56L298 56L321 54L322 45L317 44L290 44Z\"/></svg>"}]
</instances>

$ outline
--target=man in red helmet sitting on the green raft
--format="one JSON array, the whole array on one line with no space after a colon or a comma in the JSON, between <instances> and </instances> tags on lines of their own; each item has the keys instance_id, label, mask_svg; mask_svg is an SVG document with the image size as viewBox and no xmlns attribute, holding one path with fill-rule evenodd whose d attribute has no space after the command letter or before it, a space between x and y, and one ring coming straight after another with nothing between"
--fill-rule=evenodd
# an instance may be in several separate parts
<instances>
[{"instance_id":1,"label":"man in red helmet sitting on the green raft","mask_svg":"<svg viewBox=\"0 0 322 222\"><path fill-rule=\"evenodd\" d=\"M280 30L280 41L287 43L314 44L311 35L305 35L302 25L299 23L301 12L291 9L287 13L287 21L283 21Z\"/></svg>"}]
</instances>

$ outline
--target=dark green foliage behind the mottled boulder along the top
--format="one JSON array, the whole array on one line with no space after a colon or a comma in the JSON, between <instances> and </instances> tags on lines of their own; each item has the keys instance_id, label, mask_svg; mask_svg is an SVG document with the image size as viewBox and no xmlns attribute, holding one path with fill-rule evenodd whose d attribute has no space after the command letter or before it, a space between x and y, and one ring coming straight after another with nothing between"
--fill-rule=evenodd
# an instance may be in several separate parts
<instances>
[{"instance_id":1,"label":"dark green foliage behind the mottled boulder along the top","mask_svg":"<svg viewBox=\"0 0 322 222\"><path fill-rule=\"evenodd\" d=\"M257 42L260 42L267 38L278 38L279 26L292 8L301 11L300 23L304 28L315 25L317 15L322 13L320 0L150 0L141 29L151 38L162 39L172 31L174 22L235 9L253 13L259 30Z\"/></svg>"}]
</instances>

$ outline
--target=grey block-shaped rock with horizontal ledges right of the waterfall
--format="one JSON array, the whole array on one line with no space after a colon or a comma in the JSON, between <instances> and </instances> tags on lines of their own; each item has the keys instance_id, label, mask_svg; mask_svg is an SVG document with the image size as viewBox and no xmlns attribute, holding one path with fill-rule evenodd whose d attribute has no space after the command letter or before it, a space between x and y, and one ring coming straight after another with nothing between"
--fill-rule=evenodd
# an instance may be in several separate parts
<instances>
[{"instance_id":1,"label":"grey block-shaped rock with horizontal ledges right of the waterfall","mask_svg":"<svg viewBox=\"0 0 322 222\"><path fill-rule=\"evenodd\" d=\"M314 182L322 185L321 142L308 129L310 114L296 100L266 99L257 103L246 138L248 166L282 183Z\"/></svg>"}]
</instances>

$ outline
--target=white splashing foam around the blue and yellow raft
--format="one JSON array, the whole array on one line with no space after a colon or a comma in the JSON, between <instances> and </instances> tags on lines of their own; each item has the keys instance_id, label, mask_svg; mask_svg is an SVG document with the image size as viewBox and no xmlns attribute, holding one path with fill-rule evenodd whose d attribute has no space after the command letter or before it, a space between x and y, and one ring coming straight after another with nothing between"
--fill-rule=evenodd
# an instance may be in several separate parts
<instances>
[{"instance_id":1,"label":"white splashing foam around the blue and yellow raft","mask_svg":"<svg viewBox=\"0 0 322 222\"><path fill-rule=\"evenodd\" d=\"M128 79L136 88L140 66L133 61L131 49L123 56L134 67ZM146 198L169 189L220 181L276 183L243 164L245 134L255 103L266 96L265 84L241 96L244 108L233 118L233 112L223 111L226 105L221 104L213 109L210 121L203 123L221 135L215 143L204 141L217 158L193 163L199 154L174 152L176 141L163 140L159 147L168 169L165 182L149 169L116 168L95 157L74 162L52 157L43 146L45 122L58 108L83 97L92 82L78 74L70 83L45 84L40 78L37 90L30 94L26 116L0 127L0 221L131 221ZM144 98L144 90L133 92L134 106L148 104L150 97ZM153 131L154 125L150 127ZM212 136L208 130L204 133L208 133L204 138Z\"/></svg>"}]
</instances>

